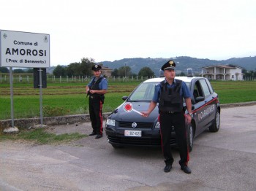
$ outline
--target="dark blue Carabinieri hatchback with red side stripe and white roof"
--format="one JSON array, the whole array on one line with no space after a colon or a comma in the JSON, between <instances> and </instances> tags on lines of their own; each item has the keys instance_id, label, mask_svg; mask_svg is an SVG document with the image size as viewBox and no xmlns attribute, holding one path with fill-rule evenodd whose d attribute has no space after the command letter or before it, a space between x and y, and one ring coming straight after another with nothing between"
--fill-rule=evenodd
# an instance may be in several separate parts
<instances>
[{"instance_id":1,"label":"dark blue Carabinieri hatchback with red side stripe and white roof","mask_svg":"<svg viewBox=\"0 0 256 191\"><path fill-rule=\"evenodd\" d=\"M114 148L127 145L161 146L158 106L148 117L142 117L140 112L147 111L154 95L155 85L164 79L159 77L142 82L129 96L124 96L122 98L124 103L108 116L105 131L108 142ZM192 122L187 125L187 142L191 152L196 136L207 128L211 132L219 130L219 99L211 83L204 77L176 77L176 79L184 81L192 95ZM187 114L186 104L184 104L184 113ZM177 145L174 129L170 145Z\"/></svg>"}]
</instances>

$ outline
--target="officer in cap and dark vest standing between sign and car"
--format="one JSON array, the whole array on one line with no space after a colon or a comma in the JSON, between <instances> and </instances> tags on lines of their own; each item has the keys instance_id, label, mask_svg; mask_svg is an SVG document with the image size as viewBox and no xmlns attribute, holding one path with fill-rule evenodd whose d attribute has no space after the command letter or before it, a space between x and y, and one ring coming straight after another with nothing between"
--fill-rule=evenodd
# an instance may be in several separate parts
<instances>
[{"instance_id":1,"label":"officer in cap and dark vest standing between sign and car","mask_svg":"<svg viewBox=\"0 0 256 191\"><path fill-rule=\"evenodd\" d=\"M104 104L104 94L107 93L108 81L102 76L102 66L95 64L91 70L94 73L93 79L86 85L86 93L89 95L89 113L91 119L92 133L89 136L96 135L95 139L102 137L102 104Z\"/></svg>"}]
</instances>

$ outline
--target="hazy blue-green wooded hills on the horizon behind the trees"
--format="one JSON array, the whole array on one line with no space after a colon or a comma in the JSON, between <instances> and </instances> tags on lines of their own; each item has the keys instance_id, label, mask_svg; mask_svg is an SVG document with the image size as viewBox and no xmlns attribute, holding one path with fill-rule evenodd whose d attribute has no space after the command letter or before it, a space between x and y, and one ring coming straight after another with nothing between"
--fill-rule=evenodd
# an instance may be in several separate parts
<instances>
[{"instance_id":1,"label":"hazy blue-green wooded hills on the horizon behind the trees","mask_svg":"<svg viewBox=\"0 0 256 191\"><path fill-rule=\"evenodd\" d=\"M256 70L256 56L245 58L230 58L222 61L215 61L209 59L192 58L188 56L180 56L175 58L124 58L118 61L103 61L103 66L110 69L119 69L121 66L129 66L132 73L138 74L143 67L149 67L154 71L155 75L159 75L159 69L168 61L173 60L176 62L176 70L179 72L187 72L187 69L193 69L193 72L200 73L201 68L212 65L235 65L241 66L248 71ZM178 72L177 72L178 73Z\"/></svg>"}]
</instances>

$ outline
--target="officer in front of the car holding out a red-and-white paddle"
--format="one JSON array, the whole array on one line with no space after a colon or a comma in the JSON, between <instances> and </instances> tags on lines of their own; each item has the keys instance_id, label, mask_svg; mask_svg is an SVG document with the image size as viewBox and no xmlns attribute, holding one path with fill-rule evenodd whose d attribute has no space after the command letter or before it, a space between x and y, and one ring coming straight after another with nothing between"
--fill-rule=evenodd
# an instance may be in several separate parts
<instances>
[{"instance_id":1,"label":"officer in front of the car holding out a red-and-white paddle","mask_svg":"<svg viewBox=\"0 0 256 191\"><path fill-rule=\"evenodd\" d=\"M190 174L191 170L187 166L189 152L185 123L191 122L191 94L185 82L175 79L175 67L176 63L174 61L167 61L162 66L161 69L164 71L165 80L156 85L154 97L148 106L148 111L142 112L142 114L143 117L148 117L159 102L159 122L162 137L162 152L165 157L165 172L170 172L173 165L173 156L170 152L170 136L172 127L174 127L181 157L181 160L179 160L181 170ZM183 98L185 99L187 111L189 112L186 115L184 115L183 111Z\"/></svg>"}]
</instances>

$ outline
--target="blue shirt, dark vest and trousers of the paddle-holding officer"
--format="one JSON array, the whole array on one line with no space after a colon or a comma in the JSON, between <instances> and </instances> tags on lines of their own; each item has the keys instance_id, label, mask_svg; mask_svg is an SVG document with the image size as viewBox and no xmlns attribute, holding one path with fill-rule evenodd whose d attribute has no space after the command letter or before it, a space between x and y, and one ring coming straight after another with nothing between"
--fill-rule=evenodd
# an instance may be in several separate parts
<instances>
[{"instance_id":1,"label":"blue shirt, dark vest and trousers of the paddle-holding officer","mask_svg":"<svg viewBox=\"0 0 256 191\"><path fill-rule=\"evenodd\" d=\"M181 166L187 165L189 160L183 112L183 98L189 96L189 90L186 90L187 85L185 84L182 87L183 83L184 82L181 80L176 79L173 85L169 85L163 81L156 86L157 97L159 97L159 122L162 136L162 151L165 157L165 163L170 165L173 164L173 156L170 152L172 127L174 127L180 151L181 160L179 164Z\"/></svg>"}]
</instances>

